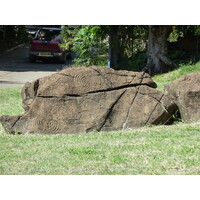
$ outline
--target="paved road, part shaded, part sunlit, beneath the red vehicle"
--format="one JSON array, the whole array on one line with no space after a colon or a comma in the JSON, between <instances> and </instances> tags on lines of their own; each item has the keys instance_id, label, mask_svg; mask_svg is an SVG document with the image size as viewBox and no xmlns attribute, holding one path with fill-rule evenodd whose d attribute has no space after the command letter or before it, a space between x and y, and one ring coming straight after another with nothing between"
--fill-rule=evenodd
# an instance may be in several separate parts
<instances>
[{"instance_id":1,"label":"paved road, part shaded, part sunlit, beneath the red vehicle","mask_svg":"<svg viewBox=\"0 0 200 200\"><path fill-rule=\"evenodd\" d=\"M49 76L70 65L71 61L66 64L57 62L30 63L28 46L18 48L0 56L0 89L23 86L26 82Z\"/></svg>"}]
</instances>

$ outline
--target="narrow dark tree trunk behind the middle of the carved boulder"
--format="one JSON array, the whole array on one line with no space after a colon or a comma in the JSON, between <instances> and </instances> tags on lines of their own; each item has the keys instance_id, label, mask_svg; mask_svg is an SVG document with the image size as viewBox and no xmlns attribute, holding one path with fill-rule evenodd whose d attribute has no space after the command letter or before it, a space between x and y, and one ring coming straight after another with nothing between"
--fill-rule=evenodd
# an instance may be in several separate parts
<instances>
[{"instance_id":1,"label":"narrow dark tree trunk behind the middle of the carved boulder","mask_svg":"<svg viewBox=\"0 0 200 200\"><path fill-rule=\"evenodd\" d=\"M119 26L110 26L110 37L109 37L109 60L110 67L117 69L119 58Z\"/></svg>"}]
</instances>

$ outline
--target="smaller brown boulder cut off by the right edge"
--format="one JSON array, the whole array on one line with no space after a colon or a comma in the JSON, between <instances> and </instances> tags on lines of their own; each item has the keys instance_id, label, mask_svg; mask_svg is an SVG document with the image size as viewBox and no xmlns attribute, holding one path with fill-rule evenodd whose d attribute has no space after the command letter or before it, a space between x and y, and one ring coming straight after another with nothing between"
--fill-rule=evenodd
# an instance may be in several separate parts
<instances>
[{"instance_id":1,"label":"smaller brown boulder cut off by the right edge","mask_svg":"<svg viewBox=\"0 0 200 200\"><path fill-rule=\"evenodd\" d=\"M200 120L200 72L187 74L165 85L165 94L178 106L184 122Z\"/></svg>"}]
</instances>

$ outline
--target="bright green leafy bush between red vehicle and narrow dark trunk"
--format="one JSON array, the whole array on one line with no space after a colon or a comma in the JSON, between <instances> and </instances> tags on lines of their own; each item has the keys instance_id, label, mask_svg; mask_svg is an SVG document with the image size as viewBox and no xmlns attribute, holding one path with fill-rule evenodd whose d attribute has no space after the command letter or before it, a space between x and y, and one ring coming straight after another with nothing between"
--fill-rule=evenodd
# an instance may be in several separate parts
<instances>
[{"instance_id":1,"label":"bright green leafy bush between red vehicle and narrow dark trunk","mask_svg":"<svg viewBox=\"0 0 200 200\"><path fill-rule=\"evenodd\" d=\"M74 30L64 27L63 48L76 52L74 59L81 65L107 65L108 43L103 26L85 25Z\"/></svg>"}]
</instances>

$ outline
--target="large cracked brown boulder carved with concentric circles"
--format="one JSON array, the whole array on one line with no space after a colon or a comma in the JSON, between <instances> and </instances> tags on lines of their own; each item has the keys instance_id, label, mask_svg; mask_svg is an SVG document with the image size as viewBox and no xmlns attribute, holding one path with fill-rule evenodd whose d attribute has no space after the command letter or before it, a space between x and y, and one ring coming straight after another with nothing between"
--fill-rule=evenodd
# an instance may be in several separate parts
<instances>
[{"instance_id":1,"label":"large cracked brown boulder carved with concentric circles","mask_svg":"<svg viewBox=\"0 0 200 200\"><path fill-rule=\"evenodd\" d=\"M25 113L1 116L9 132L68 134L164 124L174 103L144 72L107 67L67 68L26 83Z\"/></svg>"}]
</instances>

